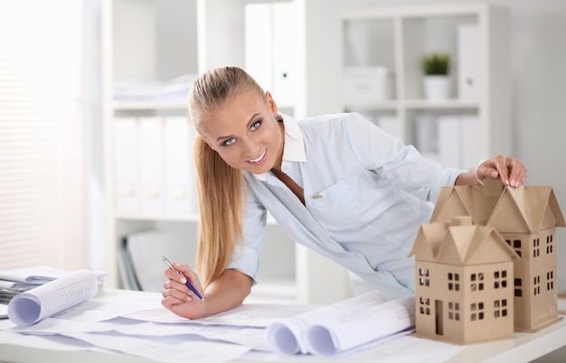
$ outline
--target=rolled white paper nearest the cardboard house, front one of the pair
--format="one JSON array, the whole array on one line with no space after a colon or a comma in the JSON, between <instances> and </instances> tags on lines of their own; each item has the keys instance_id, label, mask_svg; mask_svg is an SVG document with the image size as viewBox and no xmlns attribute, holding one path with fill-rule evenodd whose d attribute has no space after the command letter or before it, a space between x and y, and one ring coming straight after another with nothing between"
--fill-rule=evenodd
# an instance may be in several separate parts
<instances>
[{"instance_id":1,"label":"rolled white paper nearest the cardboard house, front one of the pair","mask_svg":"<svg viewBox=\"0 0 566 363\"><path fill-rule=\"evenodd\" d=\"M415 299L409 296L328 317L308 328L304 340L308 352L330 356L414 325Z\"/></svg>"}]
</instances>

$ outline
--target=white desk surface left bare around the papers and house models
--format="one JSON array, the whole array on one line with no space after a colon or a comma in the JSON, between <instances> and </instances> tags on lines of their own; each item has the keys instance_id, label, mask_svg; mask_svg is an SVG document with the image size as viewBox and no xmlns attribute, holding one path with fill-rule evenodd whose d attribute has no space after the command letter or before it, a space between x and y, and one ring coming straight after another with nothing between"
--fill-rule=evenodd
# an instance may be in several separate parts
<instances>
[{"instance_id":1,"label":"white desk surface left bare around the papers and house models","mask_svg":"<svg viewBox=\"0 0 566 363\"><path fill-rule=\"evenodd\" d=\"M104 290L99 295L131 295L136 297L140 292L129 292L124 290ZM563 305L563 303L562 303ZM468 345L457 355L445 360L447 362L529 362L540 358L553 350L566 346L566 320L559 321L550 327L535 333L515 333L511 340L499 340L486 343ZM346 356L347 362L371 361L372 351L363 354ZM373 357L377 358L377 357ZM368 360L370 359L370 360ZM305 361L305 362L327 362L337 360L330 358L317 358L313 356L303 357L280 357L269 356L269 361ZM0 361L10 362L58 362L58 363L153 363L154 360L129 356L119 353L95 352L95 351L57 351L50 349L30 349L16 345L2 344L0 341ZM239 359L239 362L258 360Z\"/></svg>"}]
</instances>

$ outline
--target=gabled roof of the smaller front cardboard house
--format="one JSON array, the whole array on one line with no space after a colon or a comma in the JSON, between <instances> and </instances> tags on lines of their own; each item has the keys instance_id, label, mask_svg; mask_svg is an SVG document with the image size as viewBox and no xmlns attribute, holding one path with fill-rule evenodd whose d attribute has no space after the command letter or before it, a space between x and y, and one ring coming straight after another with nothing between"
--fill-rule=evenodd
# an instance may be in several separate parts
<instances>
[{"instance_id":1,"label":"gabled roof of the smaller front cardboard house","mask_svg":"<svg viewBox=\"0 0 566 363\"><path fill-rule=\"evenodd\" d=\"M450 225L436 222L420 226L409 256L448 265L483 265L518 258L495 228L471 223L469 217L457 217Z\"/></svg>"}]
</instances>

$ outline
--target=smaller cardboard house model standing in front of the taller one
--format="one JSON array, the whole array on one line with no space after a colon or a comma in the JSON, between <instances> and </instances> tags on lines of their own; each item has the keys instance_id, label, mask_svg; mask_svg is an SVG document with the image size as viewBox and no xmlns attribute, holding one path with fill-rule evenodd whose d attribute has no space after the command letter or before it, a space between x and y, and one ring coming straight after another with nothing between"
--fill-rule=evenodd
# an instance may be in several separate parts
<instances>
[{"instance_id":1,"label":"smaller cardboard house model standing in front of the taller one","mask_svg":"<svg viewBox=\"0 0 566 363\"><path fill-rule=\"evenodd\" d=\"M420 227L416 256L417 335L458 344L513 337L513 248L470 217Z\"/></svg>"}]
</instances>

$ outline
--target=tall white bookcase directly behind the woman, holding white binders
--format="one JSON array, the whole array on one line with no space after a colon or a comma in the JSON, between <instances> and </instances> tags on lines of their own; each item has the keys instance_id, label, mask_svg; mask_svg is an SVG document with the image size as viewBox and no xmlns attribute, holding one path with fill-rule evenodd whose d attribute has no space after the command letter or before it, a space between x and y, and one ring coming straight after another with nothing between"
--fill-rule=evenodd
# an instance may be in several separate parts
<instances>
[{"instance_id":1,"label":"tall white bookcase directly behind the woman, holding white binders","mask_svg":"<svg viewBox=\"0 0 566 363\"><path fill-rule=\"evenodd\" d=\"M156 200L171 194L166 190L168 180L186 181L184 175L175 174L175 165L169 163L169 153L179 155L179 150L178 147L168 149L166 137L172 131L170 128L186 128L179 125L179 118L187 114L186 98L179 98L179 94L170 97L171 90L179 90L180 81L190 80L190 75L212 67L245 66L247 3L258 1L104 0L101 3L102 118L108 209L106 255L110 286L126 286L123 281L127 281L127 276L119 277L122 238L146 229L165 230L172 239L191 244L189 255L192 256L170 258L178 257L179 262L193 264L198 211L181 208L178 203L168 206L164 200ZM340 77L330 81L327 78L328 74L340 73L341 46L338 42L326 47L320 39L325 39L327 34L339 39L341 4L338 0L295 0L292 3L296 14L286 26L293 27L293 33L297 34L290 56L297 65L293 66L293 79L301 86L293 94L295 104L285 106L295 116L340 111ZM289 43L286 46L289 47ZM274 67L281 70L285 65L279 59ZM332 86L330 90L328 86ZM334 108L328 108L328 104ZM152 136L159 134L161 136L152 141ZM153 150L149 150L150 147ZM132 152L132 148L137 152ZM127 149L126 154L123 154L124 149ZM117 157L117 153L122 154ZM156 160L156 153L163 154ZM139 162L144 158L145 162ZM178 159L178 166L184 167L186 158ZM158 160L163 161L161 166ZM156 171L159 167L161 169ZM136 173L137 178L146 175L150 181L148 189L135 180ZM167 177L171 173L175 178ZM183 188L172 191L177 196L183 193ZM144 202L144 198L150 200ZM326 299L326 296L335 301L342 297L343 289L336 285L332 272L330 275L319 272L318 265L309 263L312 258L297 251L295 243L273 221L268 223L261 253L259 284L252 294L301 302L324 302L321 298ZM156 260L159 258L156 256ZM303 262L296 264L296 260ZM163 268L159 268L156 274L162 272ZM125 274L122 272L122 275ZM313 290L313 286L319 290Z\"/></svg>"}]
</instances>

